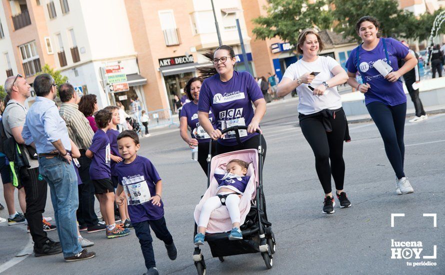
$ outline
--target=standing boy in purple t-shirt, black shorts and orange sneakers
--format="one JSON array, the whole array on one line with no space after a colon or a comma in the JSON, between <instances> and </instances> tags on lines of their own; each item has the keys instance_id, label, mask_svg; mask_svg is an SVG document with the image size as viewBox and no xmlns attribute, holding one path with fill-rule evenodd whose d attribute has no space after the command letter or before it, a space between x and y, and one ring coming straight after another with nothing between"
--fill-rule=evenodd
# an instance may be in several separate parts
<instances>
[{"instance_id":1,"label":"standing boy in purple t-shirt, black shorts and orange sneakers","mask_svg":"<svg viewBox=\"0 0 445 275\"><path fill-rule=\"evenodd\" d=\"M128 235L129 230L116 226L114 220L114 187L111 182L110 142L106 131L111 128L112 113L99 110L94 117L98 130L92 137L91 146L85 155L92 158L89 166L95 193L99 199L100 212L106 224L106 237L115 238Z\"/></svg>"}]
</instances>

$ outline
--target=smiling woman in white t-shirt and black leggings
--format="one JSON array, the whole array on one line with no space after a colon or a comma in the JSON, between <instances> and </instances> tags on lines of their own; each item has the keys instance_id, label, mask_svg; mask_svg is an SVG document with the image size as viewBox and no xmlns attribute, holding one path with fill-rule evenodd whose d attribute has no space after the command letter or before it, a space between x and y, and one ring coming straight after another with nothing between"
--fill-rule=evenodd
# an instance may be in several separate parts
<instances>
[{"instance_id":1,"label":"smiling woman in white t-shirt and black leggings","mask_svg":"<svg viewBox=\"0 0 445 275\"><path fill-rule=\"evenodd\" d=\"M323 42L314 29L301 31L297 52L303 57L286 69L277 95L284 96L296 88L301 131L315 155L316 172L324 190L323 213L331 214L335 212L331 174L340 207L351 206L343 191L343 141L350 138L336 87L348 77L335 59L317 54L322 49Z\"/></svg>"}]
</instances>

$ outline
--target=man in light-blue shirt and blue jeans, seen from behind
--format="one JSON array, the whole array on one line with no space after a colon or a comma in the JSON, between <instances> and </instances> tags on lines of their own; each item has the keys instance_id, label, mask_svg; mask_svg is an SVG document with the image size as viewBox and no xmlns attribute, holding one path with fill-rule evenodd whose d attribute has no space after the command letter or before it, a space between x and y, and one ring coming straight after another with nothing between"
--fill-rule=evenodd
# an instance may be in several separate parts
<instances>
[{"instance_id":1,"label":"man in light-blue shirt and blue jeans, seen from behind","mask_svg":"<svg viewBox=\"0 0 445 275\"><path fill-rule=\"evenodd\" d=\"M51 190L52 207L65 261L92 258L95 253L82 249L77 239L77 175L71 163L71 141L65 121L53 99L57 85L51 75L34 79L35 102L29 108L21 133L26 144L35 144L40 175Z\"/></svg>"}]
</instances>

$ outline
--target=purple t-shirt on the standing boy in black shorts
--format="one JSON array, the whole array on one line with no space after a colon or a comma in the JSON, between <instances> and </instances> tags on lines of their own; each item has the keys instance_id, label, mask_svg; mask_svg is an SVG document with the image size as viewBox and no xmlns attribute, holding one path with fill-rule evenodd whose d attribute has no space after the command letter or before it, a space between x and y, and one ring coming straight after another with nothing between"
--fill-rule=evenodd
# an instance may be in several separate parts
<instances>
[{"instance_id":1,"label":"purple t-shirt on the standing boy in black shorts","mask_svg":"<svg viewBox=\"0 0 445 275\"><path fill-rule=\"evenodd\" d=\"M89 177L91 179L110 178L109 138L102 129L94 133L88 149L94 153L89 165Z\"/></svg>"}]
</instances>

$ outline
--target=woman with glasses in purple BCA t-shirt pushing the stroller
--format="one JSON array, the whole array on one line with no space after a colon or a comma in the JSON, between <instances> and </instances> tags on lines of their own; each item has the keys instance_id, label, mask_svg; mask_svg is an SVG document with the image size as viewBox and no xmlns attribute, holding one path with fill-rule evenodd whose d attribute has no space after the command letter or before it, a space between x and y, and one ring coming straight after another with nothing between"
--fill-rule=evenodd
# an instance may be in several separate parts
<instances>
[{"instance_id":1,"label":"woman with glasses in purple BCA t-shirt pushing the stroller","mask_svg":"<svg viewBox=\"0 0 445 275\"><path fill-rule=\"evenodd\" d=\"M200 89L199 123L210 138L217 140L215 154L248 148L257 149L259 140L252 137L257 135L256 130L259 129L259 122L266 111L262 92L248 72L238 72L233 69L236 58L231 46L221 45L216 48L212 59L213 67L198 68L204 76L209 76ZM255 105L255 110L252 108L252 103ZM208 120L210 108L216 118L216 129ZM239 130L240 144L234 134L221 135L221 130L234 125L247 126L247 130ZM264 159L266 153L264 137L261 146Z\"/></svg>"}]
</instances>

